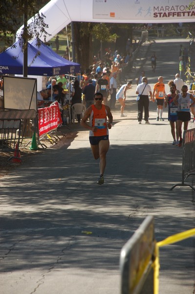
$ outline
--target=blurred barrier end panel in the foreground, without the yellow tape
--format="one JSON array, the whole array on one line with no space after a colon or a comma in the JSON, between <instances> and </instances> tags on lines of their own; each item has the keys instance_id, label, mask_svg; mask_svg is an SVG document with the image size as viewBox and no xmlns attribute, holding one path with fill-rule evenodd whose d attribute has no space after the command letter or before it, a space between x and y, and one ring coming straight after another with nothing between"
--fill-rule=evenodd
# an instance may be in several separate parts
<instances>
[{"instance_id":1,"label":"blurred barrier end panel in the foreground, without the yellow tape","mask_svg":"<svg viewBox=\"0 0 195 294\"><path fill-rule=\"evenodd\" d=\"M121 294L153 293L154 249L154 220L148 216L121 250Z\"/></svg>"}]
</instances>

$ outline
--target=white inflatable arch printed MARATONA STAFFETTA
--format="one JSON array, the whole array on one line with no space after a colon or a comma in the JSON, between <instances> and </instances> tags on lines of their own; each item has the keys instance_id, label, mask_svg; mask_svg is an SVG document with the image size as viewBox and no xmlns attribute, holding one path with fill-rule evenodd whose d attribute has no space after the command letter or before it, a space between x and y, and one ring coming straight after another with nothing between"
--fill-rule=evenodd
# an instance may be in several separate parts
<instances>
[{"instance_id":1,"label":"white inflatable arch printed MARATONA STAFFETTA","mask_svg":"<svg viewBox=\"0 0 195 294\"><path fill-rule=\"evenodd\" d=\"M47 32L51 34L46 40L49 41L72 21L138 24L195 22L195 6L189 8L190 3L192 0L51 0L40 13L44 14Z\"/></svg>"}]
</instances>

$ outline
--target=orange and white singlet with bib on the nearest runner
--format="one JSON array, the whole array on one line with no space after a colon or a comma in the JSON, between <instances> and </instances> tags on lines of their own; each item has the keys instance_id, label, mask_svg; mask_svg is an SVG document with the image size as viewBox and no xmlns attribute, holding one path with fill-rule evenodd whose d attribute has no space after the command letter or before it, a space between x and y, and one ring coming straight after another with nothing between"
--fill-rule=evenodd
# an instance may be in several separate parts
<instances>
[{"instance_id":1,"label":"orange and white singlet with bib on the nearest runner","mask_svg":"<svg viewBox=\"0 0 195 294\"><path fill-rule=\"evenodd\" d=\"M107 110L104 104L101 109L97 109L95 105L91 105L92 112L89 117L90 126L97 127L96 132L89 131L89 137L108 135L107 126Z\"/></svg>"}]
</instances>

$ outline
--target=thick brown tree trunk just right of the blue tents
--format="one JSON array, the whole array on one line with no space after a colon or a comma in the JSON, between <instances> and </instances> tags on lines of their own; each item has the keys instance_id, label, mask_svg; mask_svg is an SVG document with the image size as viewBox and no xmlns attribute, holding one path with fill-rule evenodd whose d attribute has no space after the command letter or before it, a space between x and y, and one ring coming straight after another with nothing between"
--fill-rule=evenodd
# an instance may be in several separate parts
<instances>
[{"instance_id":1,"label":"thick brown tree trunk just right of the blue tents","mask_svg":"<svg viewBox=\"0 0 195 294\"><path fill-rule=\"evenodd\" d=\"M74 22L76 62L81 64L84 72L92 64L92 33L88 23Z\"/></svg>"}]
</instances>

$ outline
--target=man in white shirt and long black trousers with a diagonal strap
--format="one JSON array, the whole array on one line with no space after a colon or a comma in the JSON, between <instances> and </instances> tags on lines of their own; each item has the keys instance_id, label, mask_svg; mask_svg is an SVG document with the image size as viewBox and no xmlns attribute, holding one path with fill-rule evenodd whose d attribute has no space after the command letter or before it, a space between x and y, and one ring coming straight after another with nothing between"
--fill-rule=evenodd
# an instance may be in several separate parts
<instances>
[{"instance_id":1,"label":"man in white shirt and long black trousers with a diagonal strap","mask_svg":"<svg viewBox=\"0 0 195 294\"><path fill-rule=\"evenodd\" d=\"M145 123L149 123L149 94L152 100L152 90L151 86L148 84L148 79L146 76L142 77L142 83L136 88L136 94L139 95L138 99L138 123L141 124L143 119L143 108L144 108L144 120Z\"/></svg>"}]
</instances>

